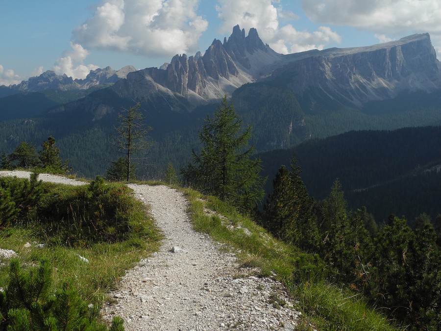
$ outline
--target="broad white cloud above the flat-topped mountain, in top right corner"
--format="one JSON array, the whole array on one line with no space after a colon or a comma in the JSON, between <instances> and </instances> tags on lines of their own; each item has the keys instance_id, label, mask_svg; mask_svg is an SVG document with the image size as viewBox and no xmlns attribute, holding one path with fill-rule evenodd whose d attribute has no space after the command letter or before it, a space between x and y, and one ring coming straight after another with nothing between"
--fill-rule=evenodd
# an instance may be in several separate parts
<instances>
[{"instance_id":1,"label":"broad white cloud above the flat-topped mountain, in top right corner","mask_svg":"<svg viewBox=\"0 0 441 331\"><path fill-rule=\"evenodd\" d=\"M350 25L378 35L380 41L429 32L441 52L439 0L302 0L308 17L320 24Z\"/></svg>"}]
</instances>

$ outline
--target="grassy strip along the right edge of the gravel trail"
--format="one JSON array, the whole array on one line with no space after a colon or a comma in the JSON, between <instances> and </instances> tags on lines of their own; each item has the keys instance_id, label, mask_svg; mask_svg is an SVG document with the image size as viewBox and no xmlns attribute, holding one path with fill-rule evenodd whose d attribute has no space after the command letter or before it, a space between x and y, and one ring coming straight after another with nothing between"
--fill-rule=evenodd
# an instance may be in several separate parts
<instances>
[{"instance_id":1,"label":"grassy strip along the right edge of the gravel trail","mask_svg":"<svg viewBox=\"0 0 441 331\"><path fill-rule=\"evenodd\" d=\"M297 330L402 330L369 307L361 295L327 283L317 256L275 240L251 218L217 198L191 189L184 193L196 230L227 244L244 266L258 267L261 275L275 274L287 286L306 316Z\"/></svg>"}]
</instances>

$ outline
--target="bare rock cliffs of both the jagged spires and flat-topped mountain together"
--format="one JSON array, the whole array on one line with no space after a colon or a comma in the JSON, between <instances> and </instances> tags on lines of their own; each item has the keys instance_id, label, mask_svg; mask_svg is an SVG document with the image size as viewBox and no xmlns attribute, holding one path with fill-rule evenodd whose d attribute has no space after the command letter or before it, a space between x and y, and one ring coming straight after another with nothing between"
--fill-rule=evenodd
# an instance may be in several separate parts
<instances>
[{"instance_id":1,"label":"bare rock cliffs of both the jagged spires and flat-topped mountain together","mask_svg":"<svg viewBox=\"0 0 441 331\"><path fill-rule=\"evenodd\" d=\"M319 92L358 107L402 91L441 89L439 67L428 34L368 47L282 55L265 45L256 29L245 36L245 30L236 25L228 40L215 39L203 55L175 55L162 69L147 68L143 78L130 74L127 80L136 79L143 86L143 94L128 92L137 100L160 91L195 106L230 96L248 82L274 80L300 98L305 92ZM141 93L135 82L117 82L114 89L121 93L119 85L130 85Z\"/></svg>"}]
</instances>

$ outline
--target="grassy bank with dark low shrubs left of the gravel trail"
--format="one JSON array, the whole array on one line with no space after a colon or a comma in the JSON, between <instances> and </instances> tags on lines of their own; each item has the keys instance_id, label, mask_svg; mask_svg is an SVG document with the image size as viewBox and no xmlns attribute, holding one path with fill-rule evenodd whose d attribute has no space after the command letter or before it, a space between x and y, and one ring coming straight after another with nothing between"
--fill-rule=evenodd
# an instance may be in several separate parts
<instances>
[{"instance_id":1,"label":"grassy bank with dark low shrubs left of the gravel trail","mask_svg":"<svg viewBox=\"0 0 441 331\"><path fill-rule=\"evenodd\" d=\"M24 270L38 265L42 259L47 259L53 266L51 291L55 292L65 281L68 281L82 299L102 305L106 293L125 270L132 268L140 259L157 251L161 239L160 231L154 227L153 219L145 205L136 201L130 194L130 190L123 184L99 183L98 188L92 191L91 198L86 194L87 185L71 187L43 183L43 186L44 197L37 206L36 213L0 230L0 247L14 250ZM109 195L113 196L113 200L110 200ZM125 226L120 230L118 224L116 230L106 230L124 231L122 236L106 242L97 239L98 236L94 235L93 240L89 240L86 233L90 231L81 231L78 225L96 225L98 221L94 221L95 223L90 221L96 211L94 209L84 211L84 204L79 197L85 197L86 202L89 198L95 199L93 203L88 204L96 204L103 210L110 208L110 204L115 204L118 210L118 222L124 218ZM47 219L41 217L43 214L41 210L47 215L48 207L56 210L57 204L60 208L60 211L56 213L60 214L58 219L53 215L49 215ZM70 213L61 216L61 208L66 206L69 206ZM72 212L75 208L79 210ZM99 215L101 217L99 222L107 222L104 216ZM65 238L69 227L75 227L75 231L71 231L69 241L67 241ZM72 233L76 237L73 237ZM113 238L109 235L106 237ZM34 244L25 247L26 242L34 242ZM45 246L34 247L35 242L44 243ZM78 255L87 258L89 263ZM8 283L9 264L4 259L1 259L1 262L3 263L0 263L0 287L4 288Z\"/></svg>"}]
</instances>

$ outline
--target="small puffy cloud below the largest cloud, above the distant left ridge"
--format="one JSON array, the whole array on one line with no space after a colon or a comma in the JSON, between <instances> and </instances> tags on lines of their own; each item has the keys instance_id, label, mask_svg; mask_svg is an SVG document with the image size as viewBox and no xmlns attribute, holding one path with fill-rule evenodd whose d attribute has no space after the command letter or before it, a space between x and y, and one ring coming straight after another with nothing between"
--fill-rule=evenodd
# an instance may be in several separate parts
<instances>
[{"instance_id":1,"label":"small puffy cloud below the largest cloud, above the distant left ridge","mask_svg":"<svg viewBox=\"0 0 441 331\"><path fill-rule=\"evenodd\" d=\"M84 65L83 61L89 55L81 45L71 42L72 51L66 51L53 66L53 71L57 75L66 74L72 78L85 78L91 70L98 69L93 64Z\"/></svg>"}]
</instances>

